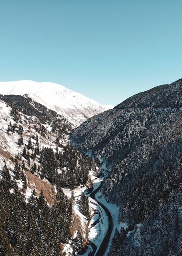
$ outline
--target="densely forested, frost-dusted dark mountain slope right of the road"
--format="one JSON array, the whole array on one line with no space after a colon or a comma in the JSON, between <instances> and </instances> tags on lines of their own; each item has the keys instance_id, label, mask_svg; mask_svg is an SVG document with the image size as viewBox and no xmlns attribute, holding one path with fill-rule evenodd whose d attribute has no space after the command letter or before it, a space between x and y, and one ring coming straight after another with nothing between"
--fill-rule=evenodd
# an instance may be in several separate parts
<instances>
[{"instance_id":1,"label":"densely forested, frost-dusted dark mountain slope right of the road","mask_svg":"<svg viewBox=\"0 0 182 256\"><path fill-rule=\"evenodd\" d=\"M112 167L102 193L119 206L109 256L182 254L182 79L139 93L71 134Z\"/></svg>"}]
</instances>

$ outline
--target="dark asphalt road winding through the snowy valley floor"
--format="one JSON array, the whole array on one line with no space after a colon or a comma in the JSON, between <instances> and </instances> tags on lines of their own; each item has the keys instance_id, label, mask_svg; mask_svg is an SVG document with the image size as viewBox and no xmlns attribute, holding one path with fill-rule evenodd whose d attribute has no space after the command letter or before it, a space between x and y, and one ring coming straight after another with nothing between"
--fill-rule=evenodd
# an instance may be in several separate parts
<instances>
[{"instance_id":1,"label":"dark asphalt road winding through the snowy valley floor","mask_svg":"<svg viewBox=\"0 0 182 256\"><path fill-rule=\"evenodd\" d=\"M107 170L104 170L104 169L103 171L107 172ZM111 213L106 208L106 206L104 206L101 202L99 202L95 198L95 194L100 190L100 188L102 187L102 184L103 184L103 181L101 181L98 188L96 188L93 192L90 193L90 197L94 199L97 202L97 204L99 204L101 210L104 210L108 217L108 227L107 227L106 235L104 236L104 239L102 240L102 243L100 244L99 248L96 249L94 256L103 256L105 254L113 228L114 228L114 224L113 224L114 222L113 222Z\"/></svg>"}]
</instances>

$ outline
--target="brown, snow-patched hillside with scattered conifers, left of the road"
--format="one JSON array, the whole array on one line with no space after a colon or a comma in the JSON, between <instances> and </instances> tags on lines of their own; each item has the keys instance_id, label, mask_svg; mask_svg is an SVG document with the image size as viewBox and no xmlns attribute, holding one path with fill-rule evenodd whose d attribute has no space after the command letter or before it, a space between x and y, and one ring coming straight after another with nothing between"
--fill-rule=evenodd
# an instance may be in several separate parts
<instances>
[{"instance_id":1,"label":"brown, snow-patched hillside with scattered conifers, left of the road","mask_svg":"<svg viewBox=\"0 0 182 256\"><path fill-rule=\"evenodd\" d=\"M0 255L67 255L69 241L75 252L85 246L88 202L75 200L74 189L96 166L68 143L70 130L29 98L0 96Z\"/></svg>"}]
</instances>

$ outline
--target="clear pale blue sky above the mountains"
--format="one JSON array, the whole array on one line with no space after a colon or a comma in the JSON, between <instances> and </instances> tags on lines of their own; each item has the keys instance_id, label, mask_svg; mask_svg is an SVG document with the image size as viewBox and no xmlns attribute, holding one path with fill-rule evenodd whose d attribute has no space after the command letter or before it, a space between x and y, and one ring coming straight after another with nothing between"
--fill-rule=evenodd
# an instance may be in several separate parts
<instances>
[{"instance_id":1,"label":"clear pale blue sky above the mountains","mask_svg":"<svg viewBox=\"0 0 182 256\"><path fill-rule=\"evenodd\" d=\"M181 0L0 0L0 81L102 104L182 78Z\"/></svg>"}]
</instances>

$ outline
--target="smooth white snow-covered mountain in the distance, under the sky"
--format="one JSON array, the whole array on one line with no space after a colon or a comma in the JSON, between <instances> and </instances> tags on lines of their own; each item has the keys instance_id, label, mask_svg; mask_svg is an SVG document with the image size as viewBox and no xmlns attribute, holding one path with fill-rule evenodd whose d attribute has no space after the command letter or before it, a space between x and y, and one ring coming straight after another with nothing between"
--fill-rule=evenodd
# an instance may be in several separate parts
<instances>
[{"instance_id":1,"label":"smooth white snow-covered mountain in the distance, under the sky","mask_svg":"<svg viewBox=\"0 0 182 256\"><path fill-rule=\"evenodd\" d=\"M74 127L96 114L113 108L112 105L100 105L93 99L51 82L39 83L31 80L0 82L0 94L29 97L63 115Z\"/></svg>"}]
</instances>

